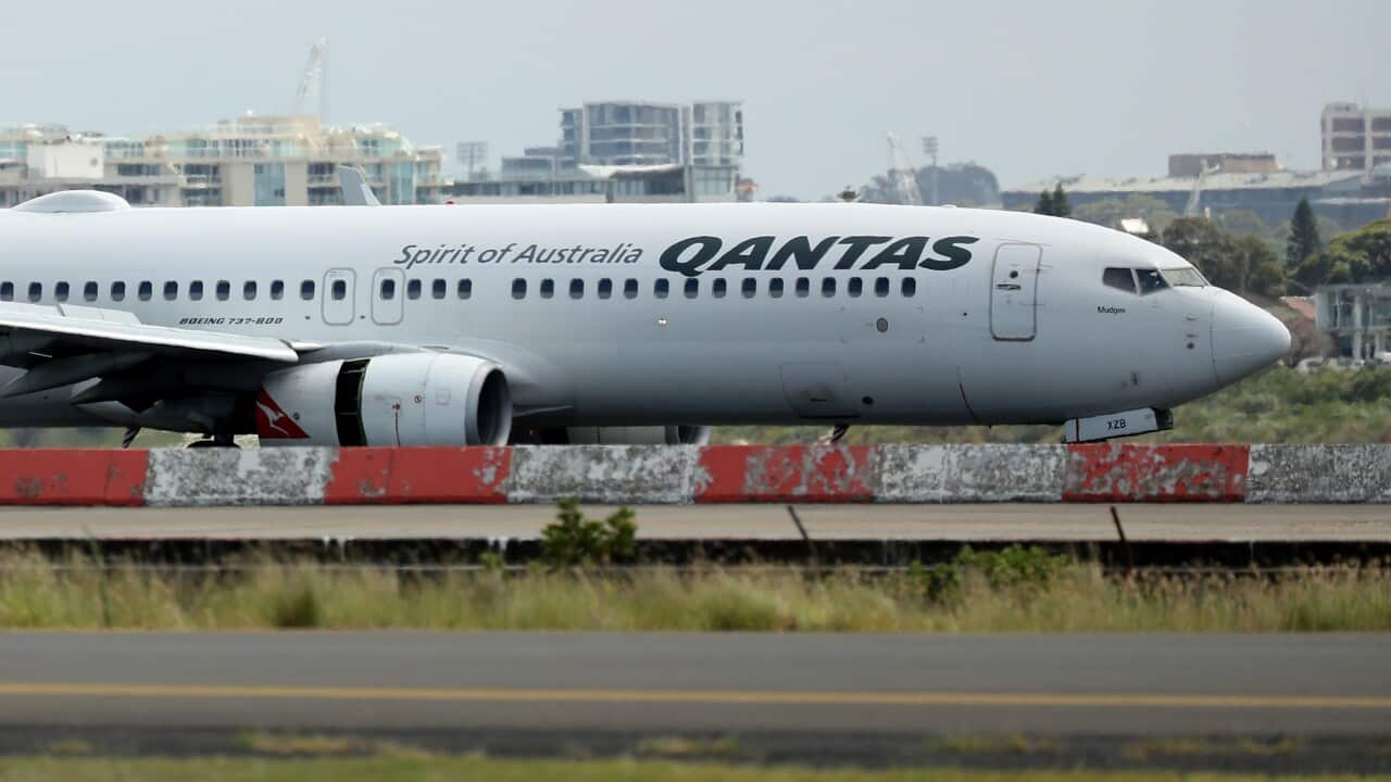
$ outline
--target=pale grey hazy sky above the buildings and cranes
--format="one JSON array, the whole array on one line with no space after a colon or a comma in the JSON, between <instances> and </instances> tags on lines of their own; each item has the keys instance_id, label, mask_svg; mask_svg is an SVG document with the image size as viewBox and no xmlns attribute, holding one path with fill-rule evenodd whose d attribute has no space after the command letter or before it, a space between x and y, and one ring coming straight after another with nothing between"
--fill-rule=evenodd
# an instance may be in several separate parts
<instances>
[{"instance_id":1,"label":"pale grey hazy sky above the buildings and cranes","mask_svg":"<svg viewBox=\"0 0 1391 782\"><path fill-rule=\"evenodd\" d=\"M1156 175L1171 152L1319 166L1330 100L1391 106L1387 0L68 0L0 14L0 121L138 134L287 111L327 36L328 120L551 145L561 106L740 99L761 195L918 157L1003 185Z\"/></svg>"}]
</instances>

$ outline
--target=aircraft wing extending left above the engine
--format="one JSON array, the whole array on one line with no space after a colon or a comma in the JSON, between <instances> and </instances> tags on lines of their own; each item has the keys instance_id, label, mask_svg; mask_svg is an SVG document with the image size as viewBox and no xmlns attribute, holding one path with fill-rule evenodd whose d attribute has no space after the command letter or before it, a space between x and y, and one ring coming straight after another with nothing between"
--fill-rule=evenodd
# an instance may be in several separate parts
<instances>
[{"instance_id":1,"label":"aircraft wing extending left above the engine","mask_svg":"<svg viewBox=\"0 0 1391 782\"><path fill-rule=\"evenodd\" d=\"M82 306L0 303L0 365L26 369L0 397L31 394L131 369L152 358L296 363L316 344L146 326L134 313Z\"/></svg>"}]
</instances>

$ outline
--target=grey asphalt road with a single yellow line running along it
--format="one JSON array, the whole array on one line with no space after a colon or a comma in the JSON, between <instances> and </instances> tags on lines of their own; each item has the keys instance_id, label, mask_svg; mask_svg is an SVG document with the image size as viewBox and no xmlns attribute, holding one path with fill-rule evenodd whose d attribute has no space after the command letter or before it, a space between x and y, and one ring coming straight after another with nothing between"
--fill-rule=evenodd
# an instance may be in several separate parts
<instances>
[{"instance_id":1,"label":"grey asphalt road with a single yellow line running along it","mask_svg":"<svg viewBox=\"0 0 1391 782\"><path fill-rule=\"evenodd\" d=\"M1391 639L0 633L0 733L1391 733Z\"/></svg>"}]
</instances>

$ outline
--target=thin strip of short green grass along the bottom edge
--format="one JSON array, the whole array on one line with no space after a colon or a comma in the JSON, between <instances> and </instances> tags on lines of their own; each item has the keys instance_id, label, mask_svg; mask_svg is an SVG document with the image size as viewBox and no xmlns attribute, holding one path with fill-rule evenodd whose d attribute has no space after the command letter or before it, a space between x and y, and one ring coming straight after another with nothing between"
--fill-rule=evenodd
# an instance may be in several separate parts
<instances>
[{"instance_id":1,"label":"thin strip of short green grass along the bottom edge","mask_svg":"<svg viewBox=\"0 0 1391 782\"><path fill-rule=\"evenodd\" d=\"M1246 782L1267 779L1256 775L1185 774L1185 772L1103 772L1103 771L961 771L961 769L810 769L798 767L732 767L715 764L680 764L665 761L523 761L490 760L483 757L374 757L328 760L263 760L263 758L3 758L0 782L29 779L65 779L71 782L115 782L142 779L147 782L184 782L203 779L216 782L278 782L316 779L356 782L377 779L491 779L522 782L530 779L568 779L647 782L694 782L719 779L730 782L858 782L858 781L917 781L933 782L1178 782L1191 779L1213 782ZM1301 779L1353 779L1353 776L1280 776L1281 782ZM1356 779L1388 779L1385 776L1356 776Z\"/></svg>"}]
</instances>

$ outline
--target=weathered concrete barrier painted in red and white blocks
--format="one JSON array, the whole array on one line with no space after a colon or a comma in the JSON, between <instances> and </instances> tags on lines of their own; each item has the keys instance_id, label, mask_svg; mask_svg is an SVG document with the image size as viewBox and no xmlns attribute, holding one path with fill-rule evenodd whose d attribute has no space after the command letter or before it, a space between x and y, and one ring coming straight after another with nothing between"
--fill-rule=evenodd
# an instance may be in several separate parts
<instances>
[{"instance_id":1,"label":"weathered concrete barrier painted in red and white blocks","mask_svg":"<svg viewBox=\"0 0 1391 782\"><path fill-rule=\"evenodd\" d=\"M1391 445L0 451L0 505L1391 502Z\"/></svg>"}]
</instances>

